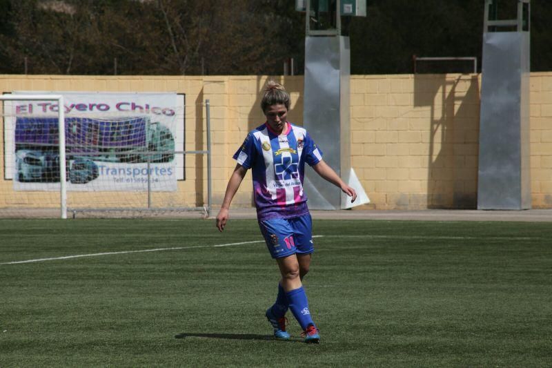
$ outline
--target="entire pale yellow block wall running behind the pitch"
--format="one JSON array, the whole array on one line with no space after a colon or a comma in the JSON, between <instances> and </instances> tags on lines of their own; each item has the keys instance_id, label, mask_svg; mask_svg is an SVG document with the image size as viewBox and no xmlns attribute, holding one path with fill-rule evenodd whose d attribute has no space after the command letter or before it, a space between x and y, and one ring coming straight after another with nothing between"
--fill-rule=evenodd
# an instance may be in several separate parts
<instances>
[{"instance_id":1,"label":"entire pale yellow block wall running behind the pitch","mask_svg":"<svg viewBox=\"0 0 552 368\"><path fill-rule=\"evenodd\" d=\"M217 206L235 166L233 153L248 131L264 121L259 95L267 79L0 75L0 89L185 93L187 150L205 149L202 103L209 99ZM291 94L290 120L302 125L303 77L274 79ZM364 208L475 208L479 91L479 75L351 76L351 164L372 201ZM1 144L0 209L57 206L57 193L12 190L12 182L3 180ZM206 203L205 163L203 157L188 155L187 180L178 183L177 193L155 193L155 200L185 206ZM252 205L250 181L248 174L234 206ZM552 208L552 72L531 74L531 190L533 208ZM123 200L120 192L103 195L112 196L110 203ZM132 199L132 193L125 195L125 200ZM95 193L80 193L79 198L79 205L98 205Z\"/></svg>"}]
</instances>

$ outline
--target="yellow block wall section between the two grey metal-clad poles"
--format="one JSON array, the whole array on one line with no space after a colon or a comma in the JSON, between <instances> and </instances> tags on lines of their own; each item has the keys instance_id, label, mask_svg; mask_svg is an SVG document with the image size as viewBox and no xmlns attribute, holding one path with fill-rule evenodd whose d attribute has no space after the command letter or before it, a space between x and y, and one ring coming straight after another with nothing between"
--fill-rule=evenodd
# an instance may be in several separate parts
<instances>
[{"instance_id":1,"label":"yellow block wall section between the two grey metal-clad poles","mask_svg":"<svg viewBox=\"0 0 552 368\"><path fill-rule=\"evenodd\" d=\"M477 205L477 75L351 77L353 167L374 209Z\"/></svg>"}]
</instances>

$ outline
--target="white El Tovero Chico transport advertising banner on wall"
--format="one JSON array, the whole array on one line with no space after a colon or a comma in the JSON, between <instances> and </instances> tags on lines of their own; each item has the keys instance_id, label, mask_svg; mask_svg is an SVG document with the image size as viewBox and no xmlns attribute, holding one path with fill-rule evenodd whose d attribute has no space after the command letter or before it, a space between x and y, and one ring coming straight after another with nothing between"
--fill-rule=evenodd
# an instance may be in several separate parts
<instances>
[{"instance_id":1,"label":"white El Tovero Chico transport advertising banner on wall","mask_svg":"<svg viewBox=\"0 0 552 368\"><path fill-rule=\"evenodd\" d=\"M184 151L184 95L56 94L65 105L68 191L177 190L184 177L184 159L175 155ZM14 189L59 190L57 102L14 101L11 108L5 139Z\"/></svg>"}]
</instances>

